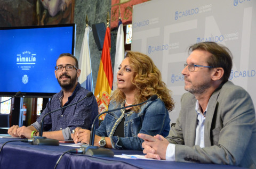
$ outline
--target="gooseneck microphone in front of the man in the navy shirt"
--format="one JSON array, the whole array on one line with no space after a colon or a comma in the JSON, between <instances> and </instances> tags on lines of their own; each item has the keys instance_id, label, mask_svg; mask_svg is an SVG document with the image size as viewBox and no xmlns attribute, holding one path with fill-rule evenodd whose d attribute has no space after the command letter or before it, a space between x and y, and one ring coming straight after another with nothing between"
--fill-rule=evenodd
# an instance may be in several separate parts
<instances>
[{"instance_id":1,"label":"gooseneck microphone in front of the man in the navy shirt","mask_svg":"<svg viewBox=\"0 0 256 169\"><path fill-rule=\"evenodd\" d=\"M64 106L64 107L61 107L59 109L56 109L55 111L51 111L51 112L48 112L46 113L42 120L41 120L41 123L40 123L40 128L39 128L39 136L35 137L32 145L52 145L52 146L59 146L59 141L58 140L55 140L55 139L47 139L46 137L43 137L43 126L44 126L44 118L45 116L51 114L51 113L54 113L54 112L57 112L61 109L64 109L66 107L69 107L69 106L73 106L79 102L82 102L85 98L87 97L91 97L93 95L92 92L89 92L84 98L82 98L81 100L79 100L78 102L76 103L73 103L73 104L70 104L70 105L67 105L67 106Z\"/></svg>"}]
</instances>

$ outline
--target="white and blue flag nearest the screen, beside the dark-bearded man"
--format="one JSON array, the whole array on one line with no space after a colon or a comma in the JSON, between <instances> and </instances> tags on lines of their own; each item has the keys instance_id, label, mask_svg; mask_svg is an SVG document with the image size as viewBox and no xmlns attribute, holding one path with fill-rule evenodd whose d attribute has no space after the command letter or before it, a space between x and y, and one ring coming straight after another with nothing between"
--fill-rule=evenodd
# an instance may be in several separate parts
<instances>
[{"instance_id":1,"label":"white and blue flag nearest the screen, beside the dark-bearded man","mask_svg":"<svg viewBox=\"0 0 256 169\"><path fill-rule=\"evenodd\" d=\"M82 87L93 92L91 57L89 48L89 33L91 31L91 27L85 28L81 53L78 62L79 69L81 69L81 74L78 78L78 82L81 84Z\"/></svg>"}]
</instances>

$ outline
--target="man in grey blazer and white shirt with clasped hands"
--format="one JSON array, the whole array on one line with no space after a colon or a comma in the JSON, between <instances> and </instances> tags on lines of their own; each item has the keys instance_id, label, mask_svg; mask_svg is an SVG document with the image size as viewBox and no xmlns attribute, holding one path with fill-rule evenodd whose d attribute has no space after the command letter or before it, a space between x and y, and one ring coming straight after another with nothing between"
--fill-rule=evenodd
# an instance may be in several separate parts
<instances>
[{"instance_id":1,"label":"man in grey blazer and white shirt with clasped hands","mask_svg":"<svg viewBox=\"0 0 256 169\"><path fill-rule=\"evenodd\" d=\"M256 168L255 109L250 95L228 81L232 57L213 42L190 46L181 111L169 136L139 133L147 158Z\"/></svg>"}]
</instances>

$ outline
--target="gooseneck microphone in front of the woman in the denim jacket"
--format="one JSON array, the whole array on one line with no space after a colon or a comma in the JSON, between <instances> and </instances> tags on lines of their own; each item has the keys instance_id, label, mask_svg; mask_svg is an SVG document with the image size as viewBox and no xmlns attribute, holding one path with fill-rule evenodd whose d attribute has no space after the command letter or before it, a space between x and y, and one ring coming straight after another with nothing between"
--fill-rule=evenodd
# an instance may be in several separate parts
<instances>
[{"instance_id":1,"label":"gooseneck microphone in front of the woman in the denim jacket","mask_svg":"<svg viewBox=\"0 0 256 169\"><path fill-rule=\"evenodd\" d=\"M139 106L142 105L146 102L149 101L153 101L157 99L157 95L153 95L151 96L148 100L146 100L145 102L139 103L139 104L135 104L135 105L130 105L130 106L125 106L125 107L119 107L116 109L112 109L106 112L102 112L100 114L98 114L93 123L92 123L92 128L91 128L91 134L90 134L90 143L89 146L87 146L87 148L85 149L85 155L90 155L90 156L95 156L95 157L114 157L114 153L113 151L109 150L109 149L104 149L104 148L99 148L98 146L94 146L94 138L95 138L95 127L94 127L94 123L95 121L98 119L98 117L102 114L105 113L109 113L109 112L114 112L114 111L118 111L119 109L123 109L123 108L128 108L128 107L133 107L133 106Z\"/></svg>"}]
</instances>

